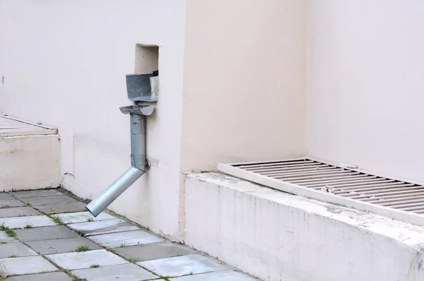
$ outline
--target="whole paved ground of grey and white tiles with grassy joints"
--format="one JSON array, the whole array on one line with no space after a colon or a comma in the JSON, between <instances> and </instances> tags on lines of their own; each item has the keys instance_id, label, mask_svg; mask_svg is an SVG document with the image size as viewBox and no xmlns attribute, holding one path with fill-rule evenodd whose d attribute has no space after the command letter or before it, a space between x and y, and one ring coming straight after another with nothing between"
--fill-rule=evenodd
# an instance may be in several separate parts
<instances>
[{"instance_id":1,"label":"whole paved ground of grey and white tiles with grassy joints","mask_svg":"<svg viewBox=\"0 0 424 281\"><path fill-rule=\"evenodd\" d=\"M60 190L0 193L0 281L257 280Z\"/></svg>"}]
</instances>

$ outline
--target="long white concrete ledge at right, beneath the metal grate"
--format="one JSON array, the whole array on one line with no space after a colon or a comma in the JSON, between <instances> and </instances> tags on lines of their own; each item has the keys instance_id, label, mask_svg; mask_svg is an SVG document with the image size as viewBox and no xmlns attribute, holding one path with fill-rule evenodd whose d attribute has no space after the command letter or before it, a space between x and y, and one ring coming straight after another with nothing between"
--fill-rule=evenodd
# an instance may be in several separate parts
<instances>
[{"instance_id":1,"label":"long white concrete ledge at right, beneath the metal grate","mask_svg":"<svg viewBox=\"0 0 424 281\"><path fill-rule=\"evenodd\" d=\"M424 280L424 227L218 173L185 196L185 243L263 280Z\"/></svg>"}]
</instances>

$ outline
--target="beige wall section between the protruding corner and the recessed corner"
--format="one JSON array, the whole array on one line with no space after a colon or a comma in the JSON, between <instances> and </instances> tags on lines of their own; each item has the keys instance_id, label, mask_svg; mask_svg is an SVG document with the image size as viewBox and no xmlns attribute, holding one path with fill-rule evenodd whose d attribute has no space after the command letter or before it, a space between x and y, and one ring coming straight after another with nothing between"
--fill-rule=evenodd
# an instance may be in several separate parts
<instances>
[{"instance_id":1,"label":"beige wall section between the protruding corner and the recessed corner","mask_svg":"<svg viewBox=\"0 0 424 281\"><path fill-rule=\"evenodd\" d=\"M304 154L306 1L187 0L182 170Z\"/></svg>"}]
</instances>

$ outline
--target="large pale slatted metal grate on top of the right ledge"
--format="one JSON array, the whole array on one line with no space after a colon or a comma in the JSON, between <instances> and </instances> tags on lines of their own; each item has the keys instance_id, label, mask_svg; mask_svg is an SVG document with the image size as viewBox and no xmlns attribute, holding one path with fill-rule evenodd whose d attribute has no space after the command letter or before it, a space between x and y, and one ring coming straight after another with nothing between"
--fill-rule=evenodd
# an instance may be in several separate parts
<instances>
[{"instance_id":1,"label":"large pale slatted metal grate on top of the right ledge","mask_svg":"<svg viewBox=\"0 0 424 281\"><path fill-rule=\"evenodd\" d=\"M424 226L424 186L301 158L219 164L218 170L288 193Z\"/></svg>"}]
</instances>

